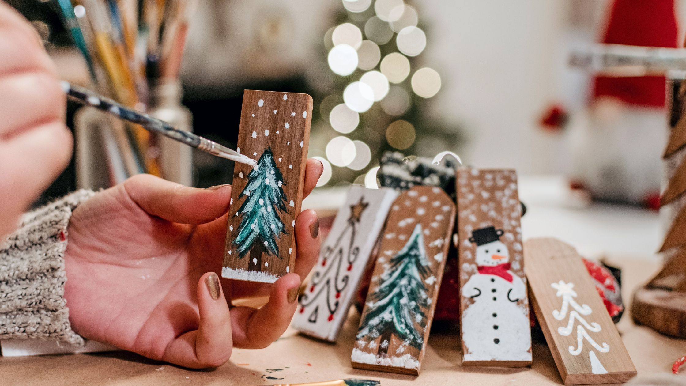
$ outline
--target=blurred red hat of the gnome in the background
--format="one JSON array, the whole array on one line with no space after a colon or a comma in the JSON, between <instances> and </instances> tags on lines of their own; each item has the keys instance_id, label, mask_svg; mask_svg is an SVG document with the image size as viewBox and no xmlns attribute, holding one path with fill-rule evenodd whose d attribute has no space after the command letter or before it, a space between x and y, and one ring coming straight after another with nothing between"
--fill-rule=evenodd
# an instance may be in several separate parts
<instances>
[{"instance_id":1,"label":"blurred red hat of the gnome in the background","mask_svg":"<svg viewBox=\"0 0 686 386\"><path fill-rule=\"evenodd\" d=\"M615 0L603 43L678 47L674 0ZM593 97L612 96L629 104L665 106L665 77L595 78Z\"/></svg>"}]
</instances>

